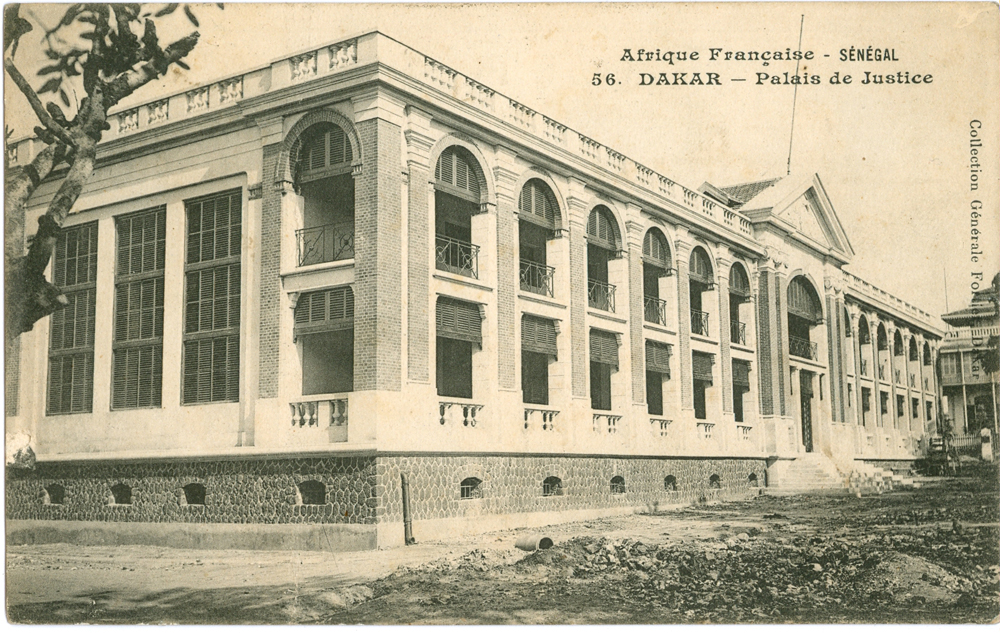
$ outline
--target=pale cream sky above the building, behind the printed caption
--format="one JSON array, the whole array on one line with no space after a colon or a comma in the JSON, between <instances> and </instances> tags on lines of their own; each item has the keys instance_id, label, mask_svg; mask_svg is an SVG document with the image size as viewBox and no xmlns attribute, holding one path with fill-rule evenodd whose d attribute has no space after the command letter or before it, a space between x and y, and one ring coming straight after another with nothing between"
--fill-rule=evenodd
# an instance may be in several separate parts
<instances>
[{"instance_id":1,"label":"pale cream sky above the building, behind the printed caption","mask_svg":"<svg viewBox=\"0 0 1000 633\"><path fill-rule=\"evenodd\" d=\"M59 12L32 10L43 21ZM855 251L848 270L933 314L968 302L973 272L988 284L1000 270L993 3L227 4L196 13L202 38L187 60L191 70L145 86L136 102L379 29L694 189L784 176L794 97L792 177L819 173ZM800 26L801 50L814 56L799 62L799 76L817 76L818 85L757 85L757 73L782 81L795 74L795 61L709 59L712 48L794 51ZM178 16L161 28L161 41L189 29ZM18 63L33 73L37 34L21 46ZM852 46L891 49L895 61L841 61L841 49ZM697 51L699 59L622 61L625 49L640 48ZM865 71L933 81L863 85ZM643 72L715 72L722 85L640 86ZM854 80L833 85L834 72ZM617 81L595 87L595 73ZM15 136L30 133L35 123L9 82L5 105ZM983 139L975 192L972 121L982 122ZM977 199L983 254L972 262Z\"/></svg>"}]
</instances>

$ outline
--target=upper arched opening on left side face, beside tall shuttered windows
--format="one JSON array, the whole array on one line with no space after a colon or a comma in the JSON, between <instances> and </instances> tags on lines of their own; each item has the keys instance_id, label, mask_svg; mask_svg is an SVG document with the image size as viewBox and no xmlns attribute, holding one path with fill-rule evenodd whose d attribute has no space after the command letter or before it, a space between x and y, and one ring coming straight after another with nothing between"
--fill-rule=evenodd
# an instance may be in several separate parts
<instances>
[{"instance_id":1,"label":"upper arched opening on left side face, beside tall shuttered windows","mask_svg":"<svg viewBox=\"0 0 1000 633\"><path fill-rule=\"evenodd\" d=\"M353 259L354 156L347 134L333 123L317 123L302 134L292 156L303 199L299 266Z\"/></svg>"}]
</instances>

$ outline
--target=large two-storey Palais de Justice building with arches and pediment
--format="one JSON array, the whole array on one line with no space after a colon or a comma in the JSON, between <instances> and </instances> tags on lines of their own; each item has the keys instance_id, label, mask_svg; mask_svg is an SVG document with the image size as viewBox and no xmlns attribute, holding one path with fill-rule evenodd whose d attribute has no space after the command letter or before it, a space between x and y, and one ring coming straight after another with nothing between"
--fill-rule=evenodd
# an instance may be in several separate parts
<instances>
[{"instance_id":1,"label":"large two-storey Palais de Justice building with arches and pediment","mask_svg":"<svg viewBox=\"0 0 1000 633\"><path fill-rule=\"evenodd\" d=\"M38 466L8 518L373 546L401 474L442 534L912 460L933 429L936 321L843 270L816 175L688 189L377 32L111 122L56 249L70 306L11 360Z\"/></svg>"}]
</instances>

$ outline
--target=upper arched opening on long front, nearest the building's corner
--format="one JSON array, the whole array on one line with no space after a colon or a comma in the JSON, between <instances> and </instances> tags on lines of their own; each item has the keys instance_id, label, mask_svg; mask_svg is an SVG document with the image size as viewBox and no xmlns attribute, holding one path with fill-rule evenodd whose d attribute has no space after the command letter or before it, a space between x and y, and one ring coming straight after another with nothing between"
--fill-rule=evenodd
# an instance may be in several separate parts
<instances>
[{"instance_id":1,"label":"upper arched opening on long front, nearest the building's corner","mask_svg":"<svg viewBox=\"0 0 1000 633\"><path fill-rule=\"evenodd\" d=\"M469 150L453 145L434 167L435 262L438 270L479 278L479 246L472 216L482 208L482 168Z\"/></svg>"}]
</instances>

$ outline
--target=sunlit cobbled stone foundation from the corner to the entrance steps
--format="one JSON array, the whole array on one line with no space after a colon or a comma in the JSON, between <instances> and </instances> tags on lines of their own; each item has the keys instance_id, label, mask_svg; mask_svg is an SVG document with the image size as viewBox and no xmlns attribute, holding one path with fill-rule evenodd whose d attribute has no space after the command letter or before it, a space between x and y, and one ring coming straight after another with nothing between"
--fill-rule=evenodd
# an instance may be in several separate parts
<instances>
[{"instance_id":1,"label":"sunlit cobbled stone foundation from the corner to the entrance steps","mask_svg":"<svg viewBox=\"0 0 1000 633\"><path fill-rule=\"evenodd\" d=\"M750 492L754 487L750 474L763 486L766 471L763 459L576 456L380 456L377 467L379 523L402 520L400 474L409 480L413 520L421 521L683 503L702 496ZM676 491L664 486L669 475L676 479ZM719 475L719 489L711 486L712 475ZM615 476L624 479L624 493L612 493ZM482 481L481 497L463 499L461 482L470 477ZM562 480L562 494L542 495L542 481L547 477Z\"/></svg>"}]
</instances>

